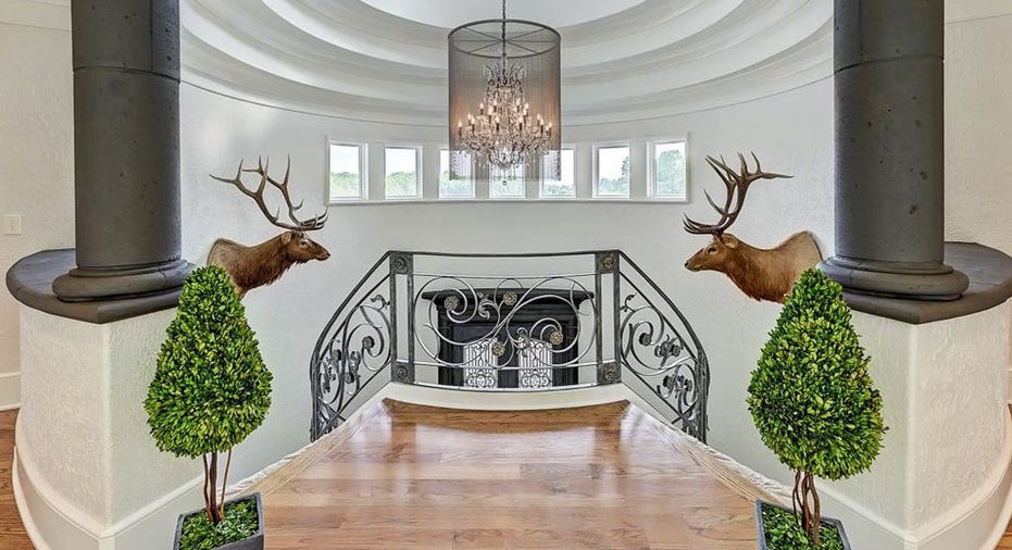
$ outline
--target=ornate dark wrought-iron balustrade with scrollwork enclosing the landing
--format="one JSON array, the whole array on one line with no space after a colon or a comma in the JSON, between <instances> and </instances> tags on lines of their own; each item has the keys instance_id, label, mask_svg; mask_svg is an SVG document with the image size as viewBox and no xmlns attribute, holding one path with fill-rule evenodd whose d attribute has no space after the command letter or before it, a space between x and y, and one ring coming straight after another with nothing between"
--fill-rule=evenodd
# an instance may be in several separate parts
<instances>
[{"instance_id":1,"label":"ornate dark wrought-iron balustrade with scrollwork enclosing the landing","mask_svg":"<svg viewBox=\"0 0 1012 550\"><path fill-rule=\"evenodd\" d=\"M624 383L705 441L709 377L692 327L622 251L391 251L316 341L311 436L388 383L467 391Z\"/></svg>"}]
</instances>

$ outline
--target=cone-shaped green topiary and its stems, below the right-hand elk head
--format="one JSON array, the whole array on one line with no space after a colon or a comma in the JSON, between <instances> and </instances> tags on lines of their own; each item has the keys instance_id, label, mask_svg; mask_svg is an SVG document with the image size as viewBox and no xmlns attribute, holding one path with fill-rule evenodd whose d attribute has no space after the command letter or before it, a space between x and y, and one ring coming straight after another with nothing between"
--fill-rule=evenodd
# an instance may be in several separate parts
<instances>
[{"instance_id":1,"label":"cone-shaped green topiary and its stems, below the right-hand elk head","mask_svg":"<svg viewBox=\"0 0 1012 550\"><path fill-rule=\"evenodd\" d=\"M882 449L882 397L869 361L840 285L805 271L770 333L747 401L763 443L795 471L792 505L816 547L814 478L864 472Z\"/></svg>"}]
</instances>

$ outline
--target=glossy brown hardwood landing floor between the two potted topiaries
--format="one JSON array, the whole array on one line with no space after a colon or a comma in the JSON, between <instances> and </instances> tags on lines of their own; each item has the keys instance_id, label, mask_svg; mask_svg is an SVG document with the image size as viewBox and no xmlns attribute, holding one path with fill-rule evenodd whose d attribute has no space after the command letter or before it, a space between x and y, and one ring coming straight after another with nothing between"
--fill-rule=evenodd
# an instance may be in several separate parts
<instances>
[{"instance_id":1,"label":"glossy brown hardwood landing floor between the two potted topiaries","mask_svg":"<svg viewBox=\"0 0 1012 550\"><path fill-rule=\"evenodd\" d=\"M628 403L380 407L264 489L267 548L755 548L752 502Z\"/></svg>"}]
</instances>

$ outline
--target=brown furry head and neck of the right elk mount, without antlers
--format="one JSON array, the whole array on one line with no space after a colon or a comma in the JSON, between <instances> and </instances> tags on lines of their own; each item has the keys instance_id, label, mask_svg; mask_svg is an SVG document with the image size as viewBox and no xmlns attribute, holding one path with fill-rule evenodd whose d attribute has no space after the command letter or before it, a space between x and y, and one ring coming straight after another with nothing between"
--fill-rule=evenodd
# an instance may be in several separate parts
<instances>
[{"instance_id":1,"label":"brown furry head and neck of the right elk mount, without antlers","mask_svg":"<svg viewBox=\"0 0 1012 550\"><path fill-rule=\"evenodd\" d=\"M772 249L752 247L725 233L689 258L685 266L694 272L724 273L749 298L783 303L801 273L820 261L819 245L808 232L796 233Z\"/></svg>"}]
</instances>

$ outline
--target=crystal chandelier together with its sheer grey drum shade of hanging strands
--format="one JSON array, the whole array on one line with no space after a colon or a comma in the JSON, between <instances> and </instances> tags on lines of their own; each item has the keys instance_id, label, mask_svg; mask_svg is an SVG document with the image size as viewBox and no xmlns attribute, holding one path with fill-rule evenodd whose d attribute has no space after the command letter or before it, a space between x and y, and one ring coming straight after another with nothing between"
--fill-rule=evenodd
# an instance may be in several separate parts
<instances>
[{"instance_id":1,"label":"crystal chandelier together with its sheer grey drum shade of hanging strands","mask_svg":"<svg viewBox=\"0 0 1012 550\"><path fill-rule=\"evenodd\" d=\"M491 23L498 24L498 37L489 32ZM525 167L558 174L559 34L507 20L503 0L502 20L458 27L449 40L451 172L468 172L473 162L499 174ZM477 62L483 90L475 101L465 96L476 95L477 83L468 80Z\"/></svg>"}]
</instances>

